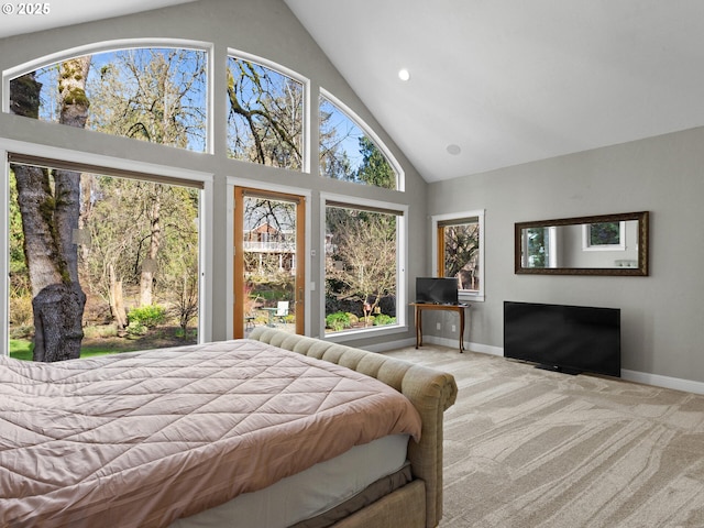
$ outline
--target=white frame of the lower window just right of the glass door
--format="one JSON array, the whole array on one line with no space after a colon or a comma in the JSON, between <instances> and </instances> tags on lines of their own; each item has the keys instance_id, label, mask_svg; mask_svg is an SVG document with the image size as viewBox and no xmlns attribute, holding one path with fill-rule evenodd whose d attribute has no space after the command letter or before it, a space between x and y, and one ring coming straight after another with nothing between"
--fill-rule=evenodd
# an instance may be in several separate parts
<instances>
[{"instance_id":1,"label":"white frame of the lower window just right of the glass door","mask_svg":"<svg viewBox=\"0 0 704 528\"><path fill-rule=\"evenodd\" d=\"M326 333L326 212L328 202L337 206L349 205L353 209L367 209L376 212L396 212L396 324L386 324L383 327L372 327L363 329L343 330L334 333ZM320 194L320 278L319 278L319 299L320 299L320 320L319 336L332 342L344 342L352 339L388 336L408 331L407 305L408 305L408 280L406 273L406 263L408 262L408 210L407 205L392 204L387 201L370 200L364 198L355 198L348 195Z\"/></svg>"}]
</instances>

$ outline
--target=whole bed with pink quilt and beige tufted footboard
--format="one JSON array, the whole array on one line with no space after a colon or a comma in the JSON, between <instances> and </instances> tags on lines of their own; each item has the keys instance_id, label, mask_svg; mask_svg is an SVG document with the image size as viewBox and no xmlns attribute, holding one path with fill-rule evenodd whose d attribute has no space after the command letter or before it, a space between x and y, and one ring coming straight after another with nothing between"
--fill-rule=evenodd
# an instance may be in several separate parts
<instances>
[{"instance_id":1,"label":"whole bed with pink quilt and beige tufted footboard","mask_svg":"<svg viewBox=\"0 0 704 528\"><path fill-rule=\"evenodd\" d=\"M1 527L431 528L442 516L449 374L268 328L94 360L1 360ZM387 459L384 474L350 479ZM361 487L271 518L333 490L336 471ZM306 476L312 487L296 481ZM265 518L244 517L252 504Z\"/></svg>"}]
</instances>

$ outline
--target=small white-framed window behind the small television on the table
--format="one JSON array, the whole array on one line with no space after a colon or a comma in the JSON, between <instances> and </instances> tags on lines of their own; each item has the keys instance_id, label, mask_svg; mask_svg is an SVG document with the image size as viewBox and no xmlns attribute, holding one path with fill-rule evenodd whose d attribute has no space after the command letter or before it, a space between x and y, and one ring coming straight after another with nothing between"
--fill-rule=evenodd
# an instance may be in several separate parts
<instances>
[{"instance_id":1,"label":"small white-framed window behind the small television on the table","mask_svg":"<svg viewBox=\"0 0 704 528\"><path fill-rule=\"evenodd\" d=\"M484 300L484 211L432 217L436 275L457 277L460 300Z\"/></svg>"}]
</instances>

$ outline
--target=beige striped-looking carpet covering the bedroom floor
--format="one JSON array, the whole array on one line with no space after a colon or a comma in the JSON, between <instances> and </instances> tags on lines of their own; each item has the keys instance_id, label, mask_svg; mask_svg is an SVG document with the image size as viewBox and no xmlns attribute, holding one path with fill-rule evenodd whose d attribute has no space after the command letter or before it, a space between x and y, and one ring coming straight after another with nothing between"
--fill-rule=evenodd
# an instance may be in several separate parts
<instances>
[{"instance_id":1,"label":"beige striped-looking carpet covering the bedroom floor","mask_svg":"<svg viewBox=\"0 0 704 528\"><path fill-rule=\"evenodd\" d=\"M455 376L441 528L704 527L704 396L424 345Z\"/></svg>"}]
</instances>

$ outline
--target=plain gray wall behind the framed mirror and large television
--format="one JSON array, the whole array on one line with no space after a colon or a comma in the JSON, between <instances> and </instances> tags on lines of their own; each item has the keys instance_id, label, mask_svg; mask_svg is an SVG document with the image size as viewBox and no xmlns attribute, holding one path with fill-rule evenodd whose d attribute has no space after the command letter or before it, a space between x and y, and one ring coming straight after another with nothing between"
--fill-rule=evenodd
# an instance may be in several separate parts
<instances>
[{"instance_id":1,"label":"plain gray wall behind the framed mirror and large television","mask_svg":"<svg viewBox=\"0 0 704 528\"><path fill-rule=\"evenodd\" d=\"M503 348L504 300L615 307L623 369L704 382L702 145L700 128L431 184L428 215L486 209L486 301L469 341ZM514 274L514 222L640 210L650 276Z\"/></svg>"}]
</instances>

